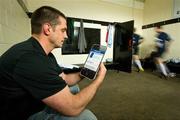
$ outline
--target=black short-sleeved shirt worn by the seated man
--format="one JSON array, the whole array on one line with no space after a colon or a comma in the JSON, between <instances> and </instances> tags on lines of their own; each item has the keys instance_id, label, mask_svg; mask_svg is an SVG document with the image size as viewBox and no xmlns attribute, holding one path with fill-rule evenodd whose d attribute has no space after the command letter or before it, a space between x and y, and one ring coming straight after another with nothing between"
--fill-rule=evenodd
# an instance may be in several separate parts
<instances>
[{"instance_id":1,"label":"black short-sleeved shirt worn by the seated man","mask_svg":"<svg viewBox=\"0 0 180 120\"><path fill-rule=\"evenodd\" d=\"M7 50L0 57L0 120L26 120L42 110L41 100L66 86L61 72L33 37Z\"/></svg>"}]
</instances>

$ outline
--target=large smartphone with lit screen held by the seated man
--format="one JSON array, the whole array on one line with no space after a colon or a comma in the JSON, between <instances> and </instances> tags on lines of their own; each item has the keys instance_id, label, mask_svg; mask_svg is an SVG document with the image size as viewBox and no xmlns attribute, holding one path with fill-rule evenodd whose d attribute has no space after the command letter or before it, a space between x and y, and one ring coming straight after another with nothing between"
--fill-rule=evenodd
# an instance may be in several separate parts
<instances>
[{"instance_id":1,"label":"large smartphone with lit screen held by the seated man","mask_svg":"<svg viewBox=\"0 0 180 120\"><path fill-rule=\"evenodd\" d=\"M91 47L86 62L80 71L80 75L91 80L95 79L96 74L99 70L99 65L102 62L103 57L106 53L106 49L106 46L94 44Z\"/></svg>"}]
</instances>

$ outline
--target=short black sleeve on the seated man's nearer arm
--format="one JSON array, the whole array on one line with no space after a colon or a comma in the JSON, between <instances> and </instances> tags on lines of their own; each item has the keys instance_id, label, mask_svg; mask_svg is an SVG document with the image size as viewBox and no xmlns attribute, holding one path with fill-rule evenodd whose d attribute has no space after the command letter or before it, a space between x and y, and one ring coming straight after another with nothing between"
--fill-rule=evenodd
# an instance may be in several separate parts
<instances>
[{"instance_id":1,"label":"short black sleeve on the seated man's nearer arm","mask_svg":"<svg viewBox=\"0 0 180 120\"><path fill-rule=\"evenodd\" d=\"M54 57L28 53L17 61L13 77L33 97L43 99L66 86L59 72Z\"/></svg>"}]
</instances>

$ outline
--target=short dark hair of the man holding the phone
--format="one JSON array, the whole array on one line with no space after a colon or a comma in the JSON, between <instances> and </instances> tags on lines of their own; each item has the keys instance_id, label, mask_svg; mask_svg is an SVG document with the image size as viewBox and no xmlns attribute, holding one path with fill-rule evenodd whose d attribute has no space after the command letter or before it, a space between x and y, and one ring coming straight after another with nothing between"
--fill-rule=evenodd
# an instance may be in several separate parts
<instances>
[{"instance_id":1,"label":"short dark hair of the man holding the phone","mask_svg":"<svg viewBox=\"0 0 180 120\"><path fill-rule=\"evenodd\" d=\"M53 27L59 24L59 16L66 19L66 16L59 10L50 7L42 6L35 10L31 16L31 33L39 34L42 25L46 22L50 23Z\"/></svg>"}]
</instances>

